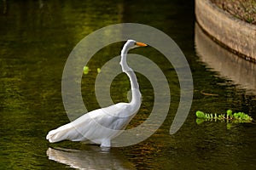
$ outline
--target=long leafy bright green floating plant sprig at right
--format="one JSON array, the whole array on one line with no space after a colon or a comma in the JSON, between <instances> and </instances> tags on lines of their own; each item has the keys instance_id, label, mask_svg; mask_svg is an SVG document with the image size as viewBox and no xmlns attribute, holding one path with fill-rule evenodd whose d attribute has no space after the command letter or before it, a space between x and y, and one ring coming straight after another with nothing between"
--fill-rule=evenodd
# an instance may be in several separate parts
<instances>
[{"instance_id":1,"label":"long leafy bright green floating plant sprig at right","mask_svg":"<svg viewBox=\"0 0 256 170\"><path fill-rule=\"evenodd\" d=\"M248 116L243 112L232 113L231 110L226 111L225 114L217 114L217 113L204 113L202 111L196 111L195 115L197 117L196 122L200 124L205 121L221 121L221 122L253 122L253 118Z\"/></svg>"}]
</instances>

